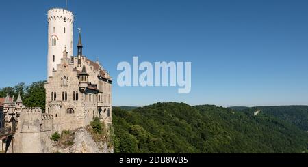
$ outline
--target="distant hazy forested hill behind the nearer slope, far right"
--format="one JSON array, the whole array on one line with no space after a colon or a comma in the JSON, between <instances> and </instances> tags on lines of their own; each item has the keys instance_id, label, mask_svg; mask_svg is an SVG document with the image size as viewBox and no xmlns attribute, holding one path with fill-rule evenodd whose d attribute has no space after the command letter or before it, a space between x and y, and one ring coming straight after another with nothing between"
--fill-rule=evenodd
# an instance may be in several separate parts
<instances>
[{"instance_id":1,"label":"distant hazy forested hill behind the nearer slope, far right","mask_svg":"<svg viewBox=\"0 0 308 167\"><path fill-rule=\"evenodd\" d=\"M252 113L255 110L262 110L266 115L272 115L308 131L308 106L259 106L243 111Z\"/></svg>"}]
</instances>

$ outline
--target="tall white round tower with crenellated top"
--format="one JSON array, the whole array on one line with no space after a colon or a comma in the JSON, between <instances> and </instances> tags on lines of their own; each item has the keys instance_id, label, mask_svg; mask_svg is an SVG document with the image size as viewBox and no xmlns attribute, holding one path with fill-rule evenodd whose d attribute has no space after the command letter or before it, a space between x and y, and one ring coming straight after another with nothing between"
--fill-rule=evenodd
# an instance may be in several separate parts
<instances>
[{"instance_id":1,"label":"tall white round tower with crenellated top","mask_svg":"<svg viewBox=\"0 0 308 167\"><path fill-rule=\"evenodd\" d=\"M57 70L64 50L68 58L73 57L73 24L73 12L60 8L48 11L48 77Z\"/></svg>"}]
</instances>

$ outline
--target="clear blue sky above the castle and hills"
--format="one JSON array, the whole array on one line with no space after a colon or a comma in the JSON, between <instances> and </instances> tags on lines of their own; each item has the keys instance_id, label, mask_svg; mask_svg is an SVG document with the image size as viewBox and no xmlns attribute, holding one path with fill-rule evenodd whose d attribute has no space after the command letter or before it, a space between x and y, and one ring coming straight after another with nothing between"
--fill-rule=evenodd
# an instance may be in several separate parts
<instances>
[{"instance_id":1,"label":"clear blue sky above the castle and hills","mask_svg":"<svg viewBox=\"0 0 308 167\"><path fill-rule=\"evenodd\" d=\"M64 0L1 1L0 87L47 78L47 10ZM84 55L114 78L115 106L185 102L308 105L308 1L68 0ZM75 52L77 49L75 49ZM190 61L192 91L118 87L120 61Z\"/></svg>"}]
</instances>

